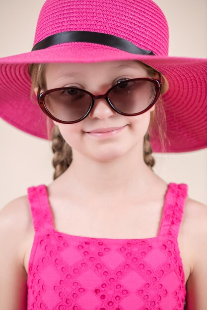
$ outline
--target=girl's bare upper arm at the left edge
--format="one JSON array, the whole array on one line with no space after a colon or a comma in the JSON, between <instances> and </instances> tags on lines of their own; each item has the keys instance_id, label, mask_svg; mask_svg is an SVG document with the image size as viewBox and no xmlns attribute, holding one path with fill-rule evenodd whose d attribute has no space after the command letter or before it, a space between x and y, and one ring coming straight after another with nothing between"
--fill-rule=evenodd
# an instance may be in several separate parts
<instances>
[{"instance_id":1,"label":"girl's bare upper arm at the left edge","mask_svg":"<svg viewBox=\"0 0 207 310\"><path fill-rule=\"evenodd\" d=\"M27 273L23 266L26 232L25 199L0 210L0 309L27 309Z\"/></svg>"}]
</instances>

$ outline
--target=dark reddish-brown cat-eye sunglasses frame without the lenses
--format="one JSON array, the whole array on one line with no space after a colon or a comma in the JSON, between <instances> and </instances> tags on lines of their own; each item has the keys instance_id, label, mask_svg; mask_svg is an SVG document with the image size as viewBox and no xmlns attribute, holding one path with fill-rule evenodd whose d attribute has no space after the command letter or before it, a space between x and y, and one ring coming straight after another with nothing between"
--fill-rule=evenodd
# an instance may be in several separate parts
<instances>
[{"instance_id":1,"label":"dark reddish-brown cat-eye sunglasses frame without the lenses","mask_svg":"<svg viewBox=\"0 0 207 310\"><path fill-rule=\"evenodd\" d=\"M81 89L81 88L77 88L77 87L59 87L59 88L53 88L53 89L50 89L50 90L47 90L47 91L44 91L40 94L38 94L37 96L37 102L40 106L40 108L42 109L42 111L47 115L49 116L51 119L55 120L56 122L58 123L62 123L62 124L74 124L74 123L78 123L80 122L81 120L83 120L84 118L86 118L88 116L88 114L90 113L90 111L92 110L93 108L93 105L95 103L95 100L96 99L105 99L107 101L107 103L109 104L109 106L114 110L116 111L117 113L121 114L121 115L125 115L125 116L137 116L139 114L143 114L145 113L146 111L148 111L157 101L157 99L159 98L160 96L160 92L161 92L161 87L162 87L162 79L161 79L161 73L158 72L158 79L154 79L154 78L150 78L150 77L145 77L145 78L135 78L135 79L129 79L129 80L125 80L125 81L122 81L114 86L112 86L105 94L103 95L97 95L97 96L94 96L92 93L84 90L84 89ZM111 92L112 89L114 89L115 87L118 87L120 86L121 84L124 84L126 82L129 82L129 81L151 81L154 85L155 85L155 95L154 95L154 98L152 100L152 102L149 104L149 106L147 106L147 108L145 108L144 110L138 112L138 113L133 113L133 114L127 114L127 113L124 113L124 112L121 112L119 110L116 109L116 107L113 105L113 103L110 102L110 99L108 98L108 94ZM75 90L79 90L79 91L83 91L85 93L87 93L88 95L90 95L91 97L91 104L90 104L90 107L88 109L88 111L79 119L75 120L75 121L62 121L58 118L56 118L55 116L53 116L49 110L47 109L47 106L44 102L44 98L46 95L54 92L54 91L60 91L60 90L68 90L68 89L75 89Z\"/></svg>"}]
</instances>

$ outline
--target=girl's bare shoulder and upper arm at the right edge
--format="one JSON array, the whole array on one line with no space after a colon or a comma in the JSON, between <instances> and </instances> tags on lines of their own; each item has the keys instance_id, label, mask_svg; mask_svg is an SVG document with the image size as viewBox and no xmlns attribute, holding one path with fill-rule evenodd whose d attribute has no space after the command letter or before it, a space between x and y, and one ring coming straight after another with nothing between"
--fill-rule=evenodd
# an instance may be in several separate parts
<instances>
[{"instance_id":1,"label":"girl's bare shoulder and upper arm at the right edge","mask_svg":"<svg viewBox=\"0 0 207 310\"><path fill-rule=\"evenodd\" d=\"M187 309L207 309L207 206L188 198L181 229L185 230L184 249L191 265L186 287Z\"/></svg>"}]
</instances>

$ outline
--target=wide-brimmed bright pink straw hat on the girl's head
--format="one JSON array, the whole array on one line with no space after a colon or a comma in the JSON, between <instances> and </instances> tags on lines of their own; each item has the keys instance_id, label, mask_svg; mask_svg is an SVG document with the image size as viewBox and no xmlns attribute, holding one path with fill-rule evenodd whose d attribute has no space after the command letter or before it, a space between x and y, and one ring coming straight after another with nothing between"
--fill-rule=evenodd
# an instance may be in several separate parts
<instances>
[{"instance_id":1,"label":"wide-brimmed bright pink straw hat on the girl's head","mask_svg":"<svg viewBox=\"0 0 207 310\"><path fill-rule=\"evenodd\" d=\"M168 56L168 25L152 0L46 0L31 52L0 58L0 116L48 139L46 115L30 100L30 63L140 60L169 83L162 96L165 152L207 147L207 59ZM156 128L154 152L163 152Z\"/></svg>"}]
</instances>

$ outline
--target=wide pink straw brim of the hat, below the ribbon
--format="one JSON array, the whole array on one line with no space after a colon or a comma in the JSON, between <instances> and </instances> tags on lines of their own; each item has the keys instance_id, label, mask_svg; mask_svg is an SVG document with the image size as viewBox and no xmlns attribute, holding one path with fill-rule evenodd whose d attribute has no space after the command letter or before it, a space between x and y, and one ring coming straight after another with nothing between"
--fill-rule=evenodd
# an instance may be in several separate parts
<instances>
[{"instance_id":1,"label":"wide pink straw brim of the hat, below the ribbon","mask_svg":"<svg viewBox=\"0 0 207 310\"><path fill-rule=\"evenodd\" d=\"M30 63L92 63L140 60L160 71L169 83L162 96L168 143L162 149L156 128L151 136L153 152L179 153L207 147L207 59L149 56L124 52L98 44L59 44L44 50L0 58L0 116L16 128L48 139L47 117L30 100Z\"/></svg>"}]
</instances>

